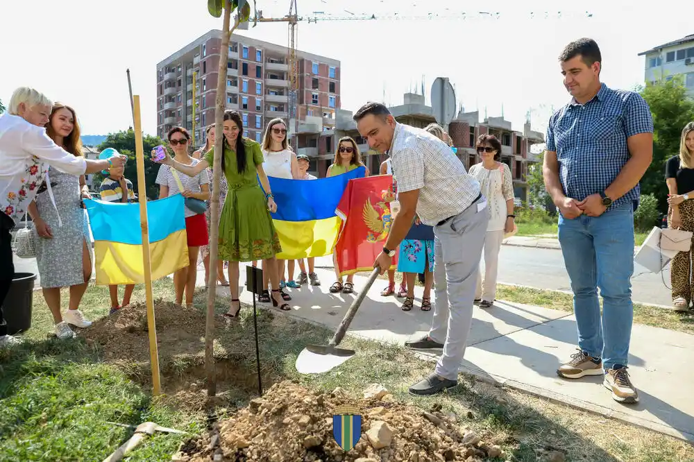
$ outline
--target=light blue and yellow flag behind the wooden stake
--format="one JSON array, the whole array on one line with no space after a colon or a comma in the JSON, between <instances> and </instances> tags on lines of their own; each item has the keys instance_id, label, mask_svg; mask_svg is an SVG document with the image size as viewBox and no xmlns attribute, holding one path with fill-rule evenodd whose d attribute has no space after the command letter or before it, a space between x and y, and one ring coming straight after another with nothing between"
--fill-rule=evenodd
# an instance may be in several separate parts
<instances>
[{"instance_id":1,"label":"light blue and yellow flag behind the wooden stake","mask_svg":"<svg viewBox=\"0 0 694 462\"><path fill-rule=\"evenodd\" d=\"M142 284L139 204L84 200L94 236L96 284ZM188 266L183 196L147 203L152 280Z\"/></svg>"}]
</instances>

